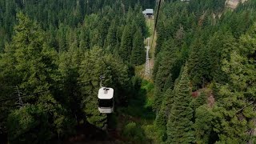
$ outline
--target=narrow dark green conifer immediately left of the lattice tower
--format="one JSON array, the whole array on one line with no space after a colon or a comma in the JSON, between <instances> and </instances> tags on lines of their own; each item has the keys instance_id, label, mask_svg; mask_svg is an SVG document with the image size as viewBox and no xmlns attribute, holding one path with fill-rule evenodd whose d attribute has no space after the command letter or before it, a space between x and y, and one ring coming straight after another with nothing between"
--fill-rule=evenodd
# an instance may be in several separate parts
<instances>
[{"instance_id":1,"label":"narrow dark green conifer immediately left of the lattice tower","mask_svg":"<svg viewBox=\"0 0 256 144\"><path fill-rule=\"evenodd\" d=\"M130 55L130 63L133 64L134 66L139 66L145 62L145 58L146 58L142 32L140 30L137 30L137 32L134 34L133 42L134 44L133 44L133 50L131 51L131 55Z\"/></svg>"}]
</instances>

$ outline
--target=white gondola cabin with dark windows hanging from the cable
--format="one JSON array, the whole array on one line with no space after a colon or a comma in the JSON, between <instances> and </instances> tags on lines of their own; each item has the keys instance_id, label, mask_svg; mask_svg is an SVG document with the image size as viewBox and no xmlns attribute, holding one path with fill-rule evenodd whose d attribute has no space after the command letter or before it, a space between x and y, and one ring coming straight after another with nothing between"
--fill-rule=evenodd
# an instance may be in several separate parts
<instances>
[{"instance_id":1,"label":"white gondola cabin with dark windows hanging from the cable","mask_svg":"<svg viewBox=\"0 0 256 144\"><path fill-rule=\"evenodd\" d=\"M102 114L114 111L114 89L102 87L98 90L98 110Z\"/></svg>"}]
</instances>

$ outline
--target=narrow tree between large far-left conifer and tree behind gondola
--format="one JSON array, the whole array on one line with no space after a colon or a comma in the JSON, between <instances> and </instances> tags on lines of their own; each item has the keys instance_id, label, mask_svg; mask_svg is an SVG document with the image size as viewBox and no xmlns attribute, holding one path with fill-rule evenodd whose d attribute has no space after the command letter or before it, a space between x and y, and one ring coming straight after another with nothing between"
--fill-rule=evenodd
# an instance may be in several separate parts
<instances>
[{"instance_id":1,"label":"narrow tree between large far-left conifer and tree behind gondola","mask_svg":"<svg viewBox=\"0 0 256 144\"><path fill-rule=\"evenodd\" d=\"M59 83L62 86L62 93L58 94L57 97L62 105L68 107L72 117L76 118L77 122L84 117L80 109L82 94L78 84L78 70L83 58L81 49L76 46L76 42L73 42L67 52L59 54L58 63L58 72L61 75Z\"/></svg>"}]
</instances>

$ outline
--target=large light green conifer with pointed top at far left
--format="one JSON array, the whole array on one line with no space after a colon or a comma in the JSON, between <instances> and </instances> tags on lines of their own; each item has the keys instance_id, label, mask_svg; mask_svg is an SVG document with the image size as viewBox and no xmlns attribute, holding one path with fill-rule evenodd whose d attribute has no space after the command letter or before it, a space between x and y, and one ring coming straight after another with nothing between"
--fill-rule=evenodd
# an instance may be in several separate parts
<instances>
[{"instance_id":1,"label":"large light green conifer with pointed top at far left","mask_svg":"<svg viewBox=\"0 0 256 144\"><path fill-rule=\"evenodd\" d=\"M56 76L56 51L47 45L46 35L38 25L24 14L18 14L18 25L14 30L12 42L3 55L10 62L2 61L2 66L12 69L2 72L17 74L12 84L19 85L26 93L47 90L50 83L54 84Z\"/></svg>"}]
</instances>

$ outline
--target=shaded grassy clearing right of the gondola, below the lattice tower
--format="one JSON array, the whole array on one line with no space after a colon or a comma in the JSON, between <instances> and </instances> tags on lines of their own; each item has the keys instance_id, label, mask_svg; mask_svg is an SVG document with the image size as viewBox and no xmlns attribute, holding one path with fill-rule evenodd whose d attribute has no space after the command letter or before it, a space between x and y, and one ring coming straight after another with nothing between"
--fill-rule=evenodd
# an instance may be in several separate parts
<instances>
[{"instance_id":1,"label":"shaded grassy clearing right of the gondola, below the lattice tower","mask_svg":"<svg viewBox=\"0 0 256 144\"><path fill-rule=\"evenodd\" d=\"M154 84L146 80L142 80L140 90L138 90L138 93L131 98L129 105L118 110L118 113L122 114L120 118L122 119L122 122L119 122L118 127L122 130L122 134L125 134L124 137L129 135L127 134L127 129L128 131L131 131L130 133L134 133L134 130L130 130L131 128L127 127L136 123L135 127L137 127L142 133L141 138L143 140L146 139L146 142L154 141L155 130L153 123L155 113L152 110L153 94ZM132 139L131 137L130 141L138 141L138 138L136 137L136 139Z\"/></svg>"}]
</instances>

